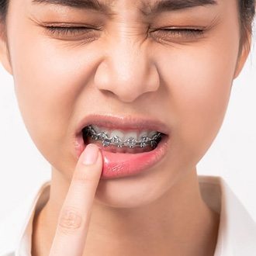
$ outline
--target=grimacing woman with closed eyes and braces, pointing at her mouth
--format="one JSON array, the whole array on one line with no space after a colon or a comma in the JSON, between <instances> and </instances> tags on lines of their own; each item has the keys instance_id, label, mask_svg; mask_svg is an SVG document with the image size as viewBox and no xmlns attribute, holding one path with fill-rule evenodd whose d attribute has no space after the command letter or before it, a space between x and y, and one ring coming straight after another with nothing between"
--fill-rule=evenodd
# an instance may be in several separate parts
<instances>
[{"instance_id":1,"label":"grimacing woman with closed eyes and braces, pointing at her mouth","mask_svg":"<svg viewBox=\"0 0 256 256\"><path fill-rule=\"evenodd\" d=\"M254 1L0 3L2 64L52 166L10 254L256 253L240 202L196 174L250 52Z\"/></svg>"}]
</instances>

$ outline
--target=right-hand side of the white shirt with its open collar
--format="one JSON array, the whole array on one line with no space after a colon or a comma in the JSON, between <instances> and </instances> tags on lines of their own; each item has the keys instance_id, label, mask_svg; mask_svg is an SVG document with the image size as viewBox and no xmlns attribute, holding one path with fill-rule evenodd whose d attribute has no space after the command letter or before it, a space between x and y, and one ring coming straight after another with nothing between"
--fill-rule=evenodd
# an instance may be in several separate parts
<instances>
[{"instance_id":1,"label":"right-hand side of the white shirt with its open collar","mask_svg":"<svg viewBox=\"0 0 256 256\"><path fill-rule=\"evenodd\" d=\"M220 213L214 256L254 256L256 223L223 178L199 176L202 199Z\"/></svg>"}]
</instances>

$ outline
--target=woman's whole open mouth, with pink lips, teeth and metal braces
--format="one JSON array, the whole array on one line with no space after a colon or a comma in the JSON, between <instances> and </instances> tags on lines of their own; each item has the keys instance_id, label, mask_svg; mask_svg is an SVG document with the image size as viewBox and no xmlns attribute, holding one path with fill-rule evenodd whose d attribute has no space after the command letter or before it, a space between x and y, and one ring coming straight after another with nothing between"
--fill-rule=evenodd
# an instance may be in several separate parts
<instances>
[{"instance_id":1,"label":"woman's whole open mouth, with pink lips, teeth and metal braces","mask_svg":"<svg viewBox=\"0 0 256 256\"><path fill-rule=\"evenodd\" d=\"M103 179L145 171L168 150L168 127L152 119L86 116L76 134L78 157L88 144L96 144L102 151Z\"/></svg>"}]
</instances>

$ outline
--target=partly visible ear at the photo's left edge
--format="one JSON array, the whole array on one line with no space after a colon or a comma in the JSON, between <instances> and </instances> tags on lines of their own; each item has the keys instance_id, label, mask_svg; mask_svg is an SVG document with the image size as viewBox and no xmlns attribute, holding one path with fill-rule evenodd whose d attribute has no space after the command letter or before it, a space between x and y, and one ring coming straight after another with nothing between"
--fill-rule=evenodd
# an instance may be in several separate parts
<instances>
[{"instance_id":1,"label":"partly visible ear at the photo's left edge","mask_svg":"<svg viewBox=\"0 0 256 256\"><path fill-rule=\"evenodd\" d=\"M4 25L0 23L0 61L5 67L5 70L12 74L12 65L9 57L9 49L7 36L5 35Z\"/></svg>"}]
</instances>

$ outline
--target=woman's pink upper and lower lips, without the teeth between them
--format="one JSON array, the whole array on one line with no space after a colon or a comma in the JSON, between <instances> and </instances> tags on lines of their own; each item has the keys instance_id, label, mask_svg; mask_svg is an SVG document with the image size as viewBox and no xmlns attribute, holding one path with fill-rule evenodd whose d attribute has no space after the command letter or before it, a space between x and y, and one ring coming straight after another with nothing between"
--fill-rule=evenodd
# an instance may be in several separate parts
<instances>
[{"instance_id":1,"label":"woman's pink upper and lower lips, without the teeth between them","mask_svg":"<svg viewBox=\"0 0 256 256\"><path fill-rule=\"evenodd\" d=\"M127 123L126 123L127 121ZM75 141L75 152L77 157L85 150L85 143L82 138L81 129L88 124L102 125L106 127L115 127L116 129L131 130L131 129L145 129L157 130L161 133L168 134L168 128L159 121L135 119L135 118L116 118L113 116L88 116L81 120L78 125L77 136ZM147 171L152 168L157 162L161 161L168 151L169 136L165 135L161 142L154 150L137 153L112 153L104 150L103 146L99 146L102 151L103 169L102 179L121 178L131 175L137 175L140 172Z\"/></svg>"}]
</instances>

